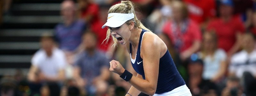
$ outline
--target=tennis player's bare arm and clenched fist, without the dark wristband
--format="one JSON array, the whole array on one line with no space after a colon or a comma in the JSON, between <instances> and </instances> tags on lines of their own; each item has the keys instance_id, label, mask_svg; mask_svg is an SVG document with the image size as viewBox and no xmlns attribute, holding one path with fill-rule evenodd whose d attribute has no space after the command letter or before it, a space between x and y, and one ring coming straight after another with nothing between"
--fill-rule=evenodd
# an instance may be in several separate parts
<instances>
[{"instance_id":1,"label":"tennis player's bare arm and clenched fist, without the dark wristband","mask_svg":"<svg viewBox=\"0 0 256 96\"><path fill-rule=\"evenodd\" d=\"M146 33L144 35L140 55L143 59L146 80L132 76L131 80L129 81L133 87L151 96L156 92L160 54L163 56L164 52L167 50L166 45L163 44L163 41L153 33L148 32L148 34ZM154 51L149 51L152 49L154 49ZM110 62L109 70L117 73L118 75L122 75L125 69L118 61L112 60Z\"/></svg>"}]
</instances>

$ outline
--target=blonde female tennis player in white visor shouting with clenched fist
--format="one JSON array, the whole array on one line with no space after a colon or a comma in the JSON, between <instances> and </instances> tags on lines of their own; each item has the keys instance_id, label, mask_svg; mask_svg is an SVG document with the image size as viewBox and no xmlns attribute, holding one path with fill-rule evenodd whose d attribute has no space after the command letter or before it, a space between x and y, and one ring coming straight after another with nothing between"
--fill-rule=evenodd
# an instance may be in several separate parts
<instances>
[{"instance_id":1,"label":"blonde female tennis player in white visor shouting with clenched fist","mask_svg":"<svg viewBox=\"0 0 256 96\"><path fill-rule=\"evenodd\" d=\"M125 96L138 96L140 92L150 96L191 96L164 42L134 13L131 1L121 1L110 7L108 20L102 26L108 27L105 40L112 36L114 46L117 42L126 46L132 67L138 73L132 76L118 61L110 62L109 70L132 84Z\"/></svg>"}]
</instances>

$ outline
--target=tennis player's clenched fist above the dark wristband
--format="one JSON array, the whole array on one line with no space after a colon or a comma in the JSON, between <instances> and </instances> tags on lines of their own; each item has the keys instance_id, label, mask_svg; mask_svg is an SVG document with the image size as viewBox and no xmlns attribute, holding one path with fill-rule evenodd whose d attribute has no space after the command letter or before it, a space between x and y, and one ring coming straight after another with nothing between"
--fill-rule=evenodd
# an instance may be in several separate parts
<instances>
[{"instance_id":1,"label":"tennis player's clenched fist above the dark wristband","mask_svg":"<svg viewBox=\"0 0 256 96\"><path fill-rule=\"evenodd\" d=\"M109 62L110 64L110 68L109 70L118 74L118 75L122 75L124 73L124 67L116 60L112 60Z\"/></svg>"}]
</instances>

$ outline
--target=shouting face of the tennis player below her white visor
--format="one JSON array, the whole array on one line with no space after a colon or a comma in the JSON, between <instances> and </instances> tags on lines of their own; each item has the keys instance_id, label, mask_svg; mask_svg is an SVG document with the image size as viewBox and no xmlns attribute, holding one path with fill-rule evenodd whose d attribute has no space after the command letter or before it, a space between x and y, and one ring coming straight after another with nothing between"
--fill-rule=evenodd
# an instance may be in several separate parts
<instances>
[{"instance_id":1,"label":"shouting face of the tennis player below her white visor","mask_svg":"<svg viewBox=\"0 0 256 96\"><path fill-rule=\"evenodd\" d=\"M108 28L110 29L111 35L114 36L117 39L117 42L119 42L120 44L124 45L130 41L131 27L129 27L129 25L127 25L126 23L124 23L120 27Z\"/></svg>"}]
</instances>

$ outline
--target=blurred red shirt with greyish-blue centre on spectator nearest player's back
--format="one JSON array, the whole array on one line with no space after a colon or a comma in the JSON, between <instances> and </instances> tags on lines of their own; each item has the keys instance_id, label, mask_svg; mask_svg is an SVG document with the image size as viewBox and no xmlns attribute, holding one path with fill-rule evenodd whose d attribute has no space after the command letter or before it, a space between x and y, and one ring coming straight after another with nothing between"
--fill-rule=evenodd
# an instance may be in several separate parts
<instances>
[{"instance_id":1,"label":"blurred red shirt with greyish-blue centre on spectator nearest player's back","mask_svg":"<svg viewBox=\"0 0 256 96\"><path fill-rule=\"evenodd\" d=\"M200 28L198 24L192 20L187 20L183 28L176 26L172 21L167 21L164 24L163 32L170 37L173 45L179 52L187 50L193 45L194 41L202 40Z\"/></svg>"}]
</instances>

